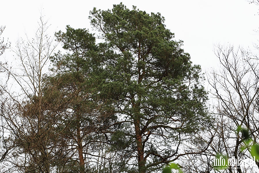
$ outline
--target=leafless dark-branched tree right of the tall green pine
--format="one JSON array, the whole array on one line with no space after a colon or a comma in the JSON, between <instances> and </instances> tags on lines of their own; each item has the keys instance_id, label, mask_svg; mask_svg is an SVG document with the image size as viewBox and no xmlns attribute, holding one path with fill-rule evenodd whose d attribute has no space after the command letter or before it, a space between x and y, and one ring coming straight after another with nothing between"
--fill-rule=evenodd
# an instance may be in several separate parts
<instances>
[{"instance_id":1,"label":"leafless dark-branched tree right of the tall green pine","mask_svg":"<svg viewBox=\"0 0 259 173\"><path fill-rule=\"evenodd\" d=\"M209 80L212 94L217 100L218 130L211 145L214 152L224 153L235 159L252 159L249 151L240 151L243 136L238 127L249 130L254 142L258 138L259 118L259 64L252 53L242 48L236 50L218 46L215 54L220 60L220 71L214 71ZM259 167L258 161L256 165ZM245 168L229 167L229 172L246 172ZM250 169L250 168L249 168ZM253 168L254 169L254 168ZM250 169L252 171L252 168Z\"/></svg>"}]
</instances>

